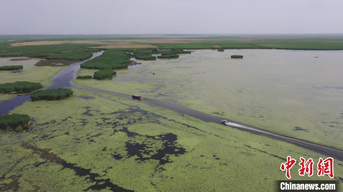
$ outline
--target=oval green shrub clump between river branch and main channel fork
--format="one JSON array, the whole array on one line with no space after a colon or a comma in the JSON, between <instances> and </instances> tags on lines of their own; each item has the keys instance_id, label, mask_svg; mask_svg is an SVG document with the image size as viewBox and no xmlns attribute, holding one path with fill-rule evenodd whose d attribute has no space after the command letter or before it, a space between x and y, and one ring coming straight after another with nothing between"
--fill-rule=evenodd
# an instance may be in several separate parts
<instances>
[{"instance_id":1,"label":"oval green shrub clump between river branch and main channel fork","mask_svg":"<svg viewBox=\"0 0 343 192\"><path fill-rule=\"evenodd\" d=\"M31 100L61 100L72 95L73 91L69 88L48 89L31 94Z\"/></svg>"}]
</instances>

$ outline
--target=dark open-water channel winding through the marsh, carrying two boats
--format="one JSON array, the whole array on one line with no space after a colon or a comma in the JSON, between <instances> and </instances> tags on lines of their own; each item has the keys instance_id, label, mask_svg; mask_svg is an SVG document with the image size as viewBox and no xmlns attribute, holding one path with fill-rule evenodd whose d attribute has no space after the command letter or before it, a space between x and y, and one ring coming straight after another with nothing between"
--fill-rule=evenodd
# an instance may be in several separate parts
<instances>
[{"instance_id":1,"label":"dark open-water channel winding through the marsh, carrying two boats","mask_svg":"<svg viewBox=\"0 0 343 192\"><path fill-rule=\"evenodd\" d=\"M76 73L80 68L80 64L85 63L86 61L89 61L95 57L100 56L103 52L104 51L94 53L90 59L71 64L70 66L64 68L54 77L54 79L52 81L53 83L51 85L49 85L48 87L46 87L45 89L58 88L58 87L73 87L73 88L81 88L81 89L85 89L85 90L89 90L89 91L106 93L106 94L110 94L110 95L116 95L116 96L131 99L131 95L128 95L128 94L117 93L117 92L113 92L113 91L106 91L106 90L102 90L102 89L91 88L88 86L73 84L73 80L76 79ZM30 101L29 95L16 96L11 100L1 102L0 103L0 115L8 113L9 111L14 109L15 107L21 106L26 101ZM209 114L206 114L206 113L203 113L200 111L196 111L193 109L189 109L189 108L186 108L183 106L178 106L174 103L156 101L156 100L151 100L151 99L143 99L142 102L145 102L147 104L154 105L157 107L170 109L170 110L173 110L179 114L193 116L193 117L196 117L197 119L200 119L200 120L205 121L205 122L220 123L220 121L222 120L220 117L209 115ZM268 137L273 138L273 139L278 139L281 141L292 143L292 144L297 145L299 147L314 150L314 151L319 152L321 154L331 156L331 157L334 157L336 159L343 161L343 150L340 150L340 149L334 149L334 148L330 148L327 146L315 144L315 143L312 143L309 141L304 141L301 139L296 139L293 137L273 133L270 131L266 131L264 129L254 128L254 127L244 125L244 124L234 122L234 121L228 121L226 126L229 126L232 128L238 128L238 129L245 130L245 131L248 131L251 133L260 134L260 135L268 136Z\"/></svg>"}]
</instances>

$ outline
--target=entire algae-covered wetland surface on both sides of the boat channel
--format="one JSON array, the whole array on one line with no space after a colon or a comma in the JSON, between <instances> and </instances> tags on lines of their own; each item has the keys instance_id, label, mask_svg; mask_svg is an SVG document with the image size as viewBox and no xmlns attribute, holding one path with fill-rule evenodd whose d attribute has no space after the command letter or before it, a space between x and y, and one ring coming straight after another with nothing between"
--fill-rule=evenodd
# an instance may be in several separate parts
<instances>
[{"instance_id":1,"label":"entire algae-covered wetland surface on both sides of the boat channel","mask_svg":"<svg viewBox=\"0 0 343 192\"><path fill-rule=\"evenodd\" d=\"M102 53L88 64L109 62ZM52 80L45 77L45 89L72 87L73 96L22 101L10 111L29 114L32 124L21 132L0 130L0 190L273 191L275 179L284 179L279 165L287 155L323 154L188 116L178 106L342 149L342 53L192 50L172 60L131 59L136 65L101 81L76 79L98 71L80 68L86 61L24 67L62 69ZM335 162L335 179L342 181L343 162ZM329 179L295 171L292 179Z\"/></svg>"}]
</instances>

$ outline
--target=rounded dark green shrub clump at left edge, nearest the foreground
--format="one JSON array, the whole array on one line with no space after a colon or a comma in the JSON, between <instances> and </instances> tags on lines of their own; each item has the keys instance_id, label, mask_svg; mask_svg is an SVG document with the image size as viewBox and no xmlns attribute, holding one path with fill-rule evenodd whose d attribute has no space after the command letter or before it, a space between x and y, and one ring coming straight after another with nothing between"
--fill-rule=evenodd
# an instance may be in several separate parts
<instances>
[{"instance_id":1,"label":"rounded dark green shrub clump at left edge, nearest the foreground","mask_svg":"<svg viewBox=\"0 0 343 192\"><path fill-rule=\"evenodd\" d=\"M31 121L30 116L23 114L6 114L0 115L0 128L17 128L19 126L26 126Z\"/></svg>"}]
</instances>

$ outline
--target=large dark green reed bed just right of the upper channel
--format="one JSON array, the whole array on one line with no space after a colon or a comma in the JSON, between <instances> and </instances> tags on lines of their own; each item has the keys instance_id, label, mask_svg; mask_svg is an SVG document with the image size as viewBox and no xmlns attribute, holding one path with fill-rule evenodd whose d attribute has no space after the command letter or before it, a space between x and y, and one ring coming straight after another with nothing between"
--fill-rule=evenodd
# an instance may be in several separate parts
<instances>
[{"instance_id":1,"label":"large dark green reed bed just right of the upper channel","mask_svg":"<svg viewBox=\"0 0 343 192\"><path fill-rule=\"evenodd\" d=\"M127 68L132 62L130 57L122 50L106 50L101 56L81 64L86 69L121 69Z\"/></svg>"}]
</instances>

